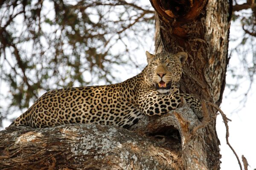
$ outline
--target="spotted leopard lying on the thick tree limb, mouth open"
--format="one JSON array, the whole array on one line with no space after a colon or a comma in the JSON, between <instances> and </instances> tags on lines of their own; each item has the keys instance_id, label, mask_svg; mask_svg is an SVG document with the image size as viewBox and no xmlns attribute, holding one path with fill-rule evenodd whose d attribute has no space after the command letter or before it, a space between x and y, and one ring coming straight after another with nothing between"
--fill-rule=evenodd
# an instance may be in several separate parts
<instances>
[{"instance_id":1,"label":"spotted leopard lying on the thick tree limb, mouth open","mask_svg":"<svg viewBox=\"0 0 256 170\"><path fill-rule=\"evenodd\" d=\"M148 64L124 82L110 85L72 87L48 91L10 126L34 128L64 124L136 124L143 116L161 116L189 103L198 119L203 117L195 96L179 92L182 65L188 54L146 51Z\"/></svg>"}]
</instances>

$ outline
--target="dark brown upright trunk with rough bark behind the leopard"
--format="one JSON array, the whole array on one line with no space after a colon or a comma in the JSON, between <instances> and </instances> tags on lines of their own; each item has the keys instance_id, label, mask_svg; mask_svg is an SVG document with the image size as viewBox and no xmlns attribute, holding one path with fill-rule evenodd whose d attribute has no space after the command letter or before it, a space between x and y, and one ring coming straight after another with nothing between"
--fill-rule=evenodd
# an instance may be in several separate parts
<instances>
[{"instance_id":1,"label":"dark brown upright trunk with rough bark behind the leopard","mask_svg":"<svg viewBox=\"0 0 256 170\"><path fill-rule=\"evenodd\" d=\"M186 51L180 89L201 100L221 104L228 64L228 37L232 1L225 0L150 0L157 11L156 52ZM169 6L166 6L169 4ZM171 5L174 5L171 7ZM176 7L175 7L176 6ZM207 107L209 117L216 111ZM201 144L207 169L219 169L219 140L215 119L204 128Z\"/></svg>"}]
</instances>

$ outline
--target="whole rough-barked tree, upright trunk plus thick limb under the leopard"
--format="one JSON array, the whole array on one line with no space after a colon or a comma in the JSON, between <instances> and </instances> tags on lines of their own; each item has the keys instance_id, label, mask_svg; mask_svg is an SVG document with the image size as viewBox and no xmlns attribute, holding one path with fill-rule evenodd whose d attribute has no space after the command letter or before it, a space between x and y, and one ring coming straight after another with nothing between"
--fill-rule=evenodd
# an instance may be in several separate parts
<instances>
[{"instance_id":1,"label":"whole rough-barked tree, upright trunk plus thick limb under the leopard","mask_svg":"<svg viewBox=\"0 0 256 170\"><path fill-rule=\"evenodd\" d=\"M192 4L193 3L193 4ZM220 105L225 86L229 4L151 0L156 50L186 51L180 90ZM103 125L0 132L0 169L215 170L220 168L216 111L203 103L198 120L184 102L164 116L144 117L130 130ZM180 139L172 137L180 133Z\"/></svg>"}]
</instances>

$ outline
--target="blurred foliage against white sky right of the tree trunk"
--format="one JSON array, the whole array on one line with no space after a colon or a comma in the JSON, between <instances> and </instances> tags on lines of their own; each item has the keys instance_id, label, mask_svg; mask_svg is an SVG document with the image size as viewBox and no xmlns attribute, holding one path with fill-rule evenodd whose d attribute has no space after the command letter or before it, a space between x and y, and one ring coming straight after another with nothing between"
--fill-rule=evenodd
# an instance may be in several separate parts
<instances>
[{"instance_id":1,"label":"blurred foliage against white sky right of the tree trunk","mask_svg":"<svg viewBox=\"0 0 256 170\"><path fill-rule=\"evenodd\" d=\"M231 59L235 58L235 64L231 64L229 72L233 76L234 82L227 84L231 91L237 91L243 86L244 96L242 100L246 101L246 96L253 85L256 73L256 2L251 0L237 0L233 4L233 23L231 29L239 34L232 34L231 43L236 48L231 49ZM239 64L237 64L239 62ZM249 80L249 85L241 85Z\"/></svg>"}]
</instances>

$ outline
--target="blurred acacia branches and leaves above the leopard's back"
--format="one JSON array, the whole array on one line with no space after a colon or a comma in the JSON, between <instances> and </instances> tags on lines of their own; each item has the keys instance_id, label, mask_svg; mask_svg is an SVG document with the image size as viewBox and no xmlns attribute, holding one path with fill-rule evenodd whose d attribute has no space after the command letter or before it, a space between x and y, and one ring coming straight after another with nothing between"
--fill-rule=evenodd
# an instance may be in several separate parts
<instances>
[{"instance_id":1,"label":"blurred acacia branches and leaves above the leopard's back","mask_svg":"<svg viewBox=\"0 0 256 170\"><path fill-rule=\"evenodd\" d=\"M137 0L6 0L0 18L1 87L9 87L0 100L11 109L0 108L2 119L45 91L118 82L114 68L137 68L132 54L154 35L153 8Z\"/></svg>"}]
</instances>

